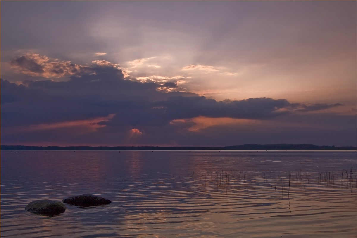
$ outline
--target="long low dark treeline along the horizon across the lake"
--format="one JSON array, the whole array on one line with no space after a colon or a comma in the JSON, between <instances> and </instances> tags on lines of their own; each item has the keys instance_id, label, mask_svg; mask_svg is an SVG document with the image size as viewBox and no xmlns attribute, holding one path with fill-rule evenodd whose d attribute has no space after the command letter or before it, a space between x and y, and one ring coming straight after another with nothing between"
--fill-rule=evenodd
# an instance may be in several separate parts
<instances>
[{"instance_id":1,"label":"long low dark treeline along the horizon across the lake","mask_svg":"<svg viewBox=\"0 0 357 238\"><path fill-rule=\"evenodd\" d=\"M25 145L1 145L1 150L356 150L353 146L318 146L311 144L245 144L225 147L197 147L197 146L25 146Z\"/></svg>"}]
</instances>

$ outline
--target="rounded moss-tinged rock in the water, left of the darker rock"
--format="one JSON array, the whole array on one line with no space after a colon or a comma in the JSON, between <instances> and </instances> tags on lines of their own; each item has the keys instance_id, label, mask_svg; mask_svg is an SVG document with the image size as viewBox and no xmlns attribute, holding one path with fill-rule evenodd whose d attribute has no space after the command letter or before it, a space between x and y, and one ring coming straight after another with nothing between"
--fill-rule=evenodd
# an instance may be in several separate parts
<instances>
[{"instance_id":1,"label":"rounded moss-tinged rock in the water, left of the darker rock","mask_svg":"<svg viewBox=\"0 0 357 238\"><path fill-rule=\"evenodd\" d=\"M63 203L48 199L30 202L25 207L26 211L47 216L59 215L64 213L66 209L67 207Z\"/></svg>"}]
</instances>

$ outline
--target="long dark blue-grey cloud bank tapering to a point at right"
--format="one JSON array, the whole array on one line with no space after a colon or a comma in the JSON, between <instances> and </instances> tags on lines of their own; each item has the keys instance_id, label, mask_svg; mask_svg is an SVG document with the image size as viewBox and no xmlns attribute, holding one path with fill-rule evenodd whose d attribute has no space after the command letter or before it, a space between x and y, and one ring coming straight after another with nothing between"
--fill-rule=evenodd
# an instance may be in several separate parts
<instances>
[{"instance_id":1,"label":"long dark blue-grey cloud bank tapering to a point at right","mask_svg":"<svg viewBox=\"0 0 357 238\"><path fill-rule=\"evenodd\" d=\"M2 125L55 123L116 114L108 124L168 124L198 116L266 119L293 110L320 110L335 105L291 104L285 99L250 98L221 101L184 92L161 92L157 83L125 80L120 69L90 68L94 73L69 81L33 81L17 86L1 81ZM165 83L166 87L176 87ZM300 109L302 108L302 109Z\"/></svg>"}]
</instances>

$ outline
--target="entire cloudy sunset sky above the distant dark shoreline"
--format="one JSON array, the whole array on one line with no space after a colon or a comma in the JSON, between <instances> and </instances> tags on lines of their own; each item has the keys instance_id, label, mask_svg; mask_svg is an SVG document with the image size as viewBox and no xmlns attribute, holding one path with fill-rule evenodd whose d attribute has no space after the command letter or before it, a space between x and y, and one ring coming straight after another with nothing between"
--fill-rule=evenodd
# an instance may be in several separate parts
<instances>
[{"instance_id":1,"label":"entire cloudy sunset sky above the distant dark shoreline","mask_svg":"<svg viewBox=\"0 0 357 238\"><path fill-rule=\"evenodd\" d=\"M356 1L1 1L1 145L356 146Z\"/></svg>"}]
</instances>

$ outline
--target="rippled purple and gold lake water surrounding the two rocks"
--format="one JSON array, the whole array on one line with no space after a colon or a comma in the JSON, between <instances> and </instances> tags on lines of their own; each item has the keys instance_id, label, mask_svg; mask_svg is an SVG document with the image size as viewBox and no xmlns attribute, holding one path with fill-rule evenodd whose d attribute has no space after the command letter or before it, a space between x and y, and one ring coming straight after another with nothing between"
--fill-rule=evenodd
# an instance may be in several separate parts
<instances>
[{"instance_id":1,"label":"rippled purple and gold lake water surrounding the two rocks","mask_svg":"<svg viewBox=\"0 0 357 238\"><path fill-rule=\"evenodd\" d=\"M83 193L113 202L24 210ZM1 151L0 235L356 237L356 151Z\"/></svg>"}]
</instances>

